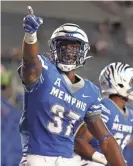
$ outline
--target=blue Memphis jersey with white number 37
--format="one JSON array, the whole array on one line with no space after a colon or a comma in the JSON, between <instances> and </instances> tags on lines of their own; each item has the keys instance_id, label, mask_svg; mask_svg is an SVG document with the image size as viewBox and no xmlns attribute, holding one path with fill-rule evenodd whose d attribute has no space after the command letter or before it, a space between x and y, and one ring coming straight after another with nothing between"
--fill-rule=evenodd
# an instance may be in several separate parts
<instances>
[{"instance_id":1,"label":"blue Memphis jersey with white number 37","mask_svg":"<svg viewBox=\"0 0 133 166\"><path fill-rule=\"evenodd\" d=\"M99 90L78 75L80 81L72 84L49 59L42 55L38 58L42 73L34 85L25 86L20 120L23 152L71 158L74 133L82 119L101 113ZM21 77L20 70L21 66Z\"/></svg>"}]
</instances>

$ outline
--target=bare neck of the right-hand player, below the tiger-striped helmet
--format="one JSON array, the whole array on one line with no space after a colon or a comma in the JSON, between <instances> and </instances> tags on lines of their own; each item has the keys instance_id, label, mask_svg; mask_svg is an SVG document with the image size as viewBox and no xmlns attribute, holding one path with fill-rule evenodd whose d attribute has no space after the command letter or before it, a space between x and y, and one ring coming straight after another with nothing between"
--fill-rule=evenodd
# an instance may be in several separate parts
<instances>
[{"instance_id":1,"label":"bare neck of the right-hand player, below the tiger-striped helmet","mask_svg":"<svg viewBox=\"0 0 133 166\"><path fill-rule=\"evenodd\" d=\"M119 96L110 96L110 99L122 110L125 108L126 101Z\"/></svg>"}]
</instances>

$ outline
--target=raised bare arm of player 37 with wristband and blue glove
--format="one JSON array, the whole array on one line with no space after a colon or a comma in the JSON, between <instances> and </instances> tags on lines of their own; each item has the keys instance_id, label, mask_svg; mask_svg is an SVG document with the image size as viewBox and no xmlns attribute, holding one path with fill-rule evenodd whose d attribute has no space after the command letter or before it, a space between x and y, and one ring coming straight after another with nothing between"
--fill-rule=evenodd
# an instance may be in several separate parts
<instances>
[{"instance_id":1,"label":"raised bare arm of player 37 with wristband and blue glove","mask_svg":"<svg viewBox=\"0 0 133 166\"><path fill-rule=\"evenodd\" d=\"M23 20L25 35L22 43L23 63L21 77L26 85L30 85L38 79L42 71L42 64L38 58L37 30L43 20L34 15L30 6L27 9L28 15Z\"/></svg>"}]
</instances>

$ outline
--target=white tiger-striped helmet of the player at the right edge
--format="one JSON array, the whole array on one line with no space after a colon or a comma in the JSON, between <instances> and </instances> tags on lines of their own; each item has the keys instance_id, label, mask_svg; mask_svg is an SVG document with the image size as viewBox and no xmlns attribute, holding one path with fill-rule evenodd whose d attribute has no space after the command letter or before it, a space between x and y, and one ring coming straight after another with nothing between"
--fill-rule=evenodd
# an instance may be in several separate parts
<instances>
[{"instance_id":1,"label":"white tiger-striped helmet of the player at the right edge","mask_svg":"<svg viewBox=\"0 0 133 166\"><path fill-rule=\"evenodd\" d=\"M133 100L133 68L122 62L106 66L99 76L101 92L105 96L118 94Z\"/></svg>"}]
</instances>

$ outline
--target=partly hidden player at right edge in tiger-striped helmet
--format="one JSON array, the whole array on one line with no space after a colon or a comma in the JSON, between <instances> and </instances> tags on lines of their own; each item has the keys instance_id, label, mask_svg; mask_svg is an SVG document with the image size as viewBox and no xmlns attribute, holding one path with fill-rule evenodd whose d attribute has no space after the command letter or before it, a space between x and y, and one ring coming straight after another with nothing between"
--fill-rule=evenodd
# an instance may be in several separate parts
<instances>
[{"instance_id":1,"label":"partly hidden player at right edge in tiger-striped helmet","mask_svg":"<svg viewBox=\"0 0 133 166\"><path fill-rule=\"evenodd\" d=\"M123 152L133 133L132 107L127 105L128 101L133 100L133 68L121 62L111 63L101 71L99 82L101 93L105 97L101 102L108 108L102 109L102 120L113 134ZM90 136L87 129L84 128L84 133L78 135L78 137L80 136L84 138L84 141L78 138L76 140L75 149L78 154L89 159L87 153L90 156L90 147L87 148L85 145L87 137L89 137L88 141L91 142L95 150L101 152L98 141ZM108 142L106 143L108 144ZM81 151L80 148L83 144L86 149L84 148ZM87 152L87 149L89 152ZM110 147L110 150L112 150L112 147ZM117 155L117 153L115 154ZM85 163L88 166L101 165L96 162L85 162L85 160L82 160L82 164Z\"/></svg>"}]
</instances>

